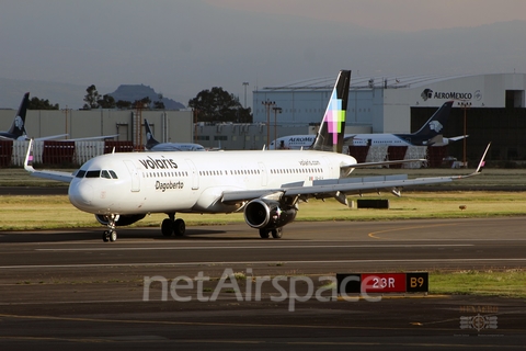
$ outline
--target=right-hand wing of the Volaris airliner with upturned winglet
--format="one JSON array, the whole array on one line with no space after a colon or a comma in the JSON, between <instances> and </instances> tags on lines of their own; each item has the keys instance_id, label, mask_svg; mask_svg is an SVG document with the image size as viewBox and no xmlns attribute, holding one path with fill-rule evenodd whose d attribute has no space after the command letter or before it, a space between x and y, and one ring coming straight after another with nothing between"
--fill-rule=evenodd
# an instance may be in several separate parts
<instances>
[{"instance_id":1,"label":"right-hand wing of the Volaris airliner with upturned winglet","mask_svg":"<svg viewBox=\"0 0 526 351\"><path fill-rule=\"evenodd\" d=\"M491 145L491 144L490 144ZM427 178L415 178L408 179L407 174L396 174L396 176L380 176L380 177L368 177L368 178L342 178L342 179L327 179L313 181L312 185L305 186L302 182L284 184L281 189L270 189L270 190L243 190L243 191L225 191L222 193L224 203L239 203L242 201L249 201L258 197L266 196L287 196L294 197L299 196L302 200L309 197L316 199L327 199L335 197L343 204L346 204L346 195L351 194L363 194L368 192L380 192L387 190L393 193L397 196L400 196L400 190L404 186L414 186L414 185L425 185L425 184L437 184L437 183L447 183L455 180L473 177L480 174L484 166L485 155L490 145L485 148L485 151L479 162L477 169L466 176L449 176L449 177L427 177Z\"/></svg>"}]
</instances>

